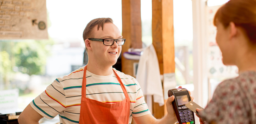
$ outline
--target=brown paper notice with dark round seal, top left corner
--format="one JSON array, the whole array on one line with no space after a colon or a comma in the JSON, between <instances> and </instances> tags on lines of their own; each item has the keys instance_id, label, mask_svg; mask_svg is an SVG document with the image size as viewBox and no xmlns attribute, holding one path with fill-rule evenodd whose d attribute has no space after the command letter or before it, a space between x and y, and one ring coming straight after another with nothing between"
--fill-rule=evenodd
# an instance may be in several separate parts
<instances>
[{"instance_id":1,"label":"brown paper notice with dark round seal, top left corner","mask_svg":"<svg viewBox=\"0 0 256 124\"><path fill-rule=\"evenodd\" d=\"M0 39L48 39L46 0L0 0Z\"/></svg>"}]
</instances>

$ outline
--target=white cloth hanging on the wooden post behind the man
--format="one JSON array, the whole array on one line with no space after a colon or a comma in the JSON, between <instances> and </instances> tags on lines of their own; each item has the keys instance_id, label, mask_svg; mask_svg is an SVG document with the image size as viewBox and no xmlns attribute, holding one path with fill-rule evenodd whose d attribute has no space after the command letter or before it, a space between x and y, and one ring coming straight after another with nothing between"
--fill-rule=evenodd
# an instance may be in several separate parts
<instances>
[{"instance_id":1,"label":"white cloth hanging on the wooden post behind the man","mask_svg":"<svg viewBox=\"0 0 256 124\"><path fill-rule=\"evenodd\" d=\"M146 103L152 112L152 95L159 106L165 104L158 58L153 44L146 47L140 56L136 79L146 97Z\"/></svg>"}]
</instances>

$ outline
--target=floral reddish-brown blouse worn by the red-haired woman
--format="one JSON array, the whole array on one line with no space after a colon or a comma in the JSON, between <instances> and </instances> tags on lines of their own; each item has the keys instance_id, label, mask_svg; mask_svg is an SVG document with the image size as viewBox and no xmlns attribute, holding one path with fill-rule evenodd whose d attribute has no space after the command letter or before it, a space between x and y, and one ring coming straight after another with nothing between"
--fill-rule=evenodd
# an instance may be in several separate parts
<instances>
[{"instance_id":1,"label":"floral reddish-brown blouse worn by the red-haired woman","mask_svg":"<svg viewBox=\"0 0 256 124\"><path fill-rule=\"evenodd\" d=\"M256 124L256 72L220 83L201 116L207 123Z\"/></svg>"}]
</instances>

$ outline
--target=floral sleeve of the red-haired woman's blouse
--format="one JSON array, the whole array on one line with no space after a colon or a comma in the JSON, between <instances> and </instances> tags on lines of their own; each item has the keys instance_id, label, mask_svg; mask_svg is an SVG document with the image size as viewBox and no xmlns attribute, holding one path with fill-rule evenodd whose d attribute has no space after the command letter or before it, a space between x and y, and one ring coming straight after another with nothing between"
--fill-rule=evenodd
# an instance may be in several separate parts
<instances>
[{"instance_id":1,"label":"floral sleeve of the red-haired woman's blouse","mask_svg":"<svg viewBox=\"0 0 256 124\"><path fill-rule=\"evenodd\" d=\"M217 86L213 98L201 113L207 123L244 124L247 118L243 103L245 96L238 83L230 79Z\"/></svg>"}]
</instances>

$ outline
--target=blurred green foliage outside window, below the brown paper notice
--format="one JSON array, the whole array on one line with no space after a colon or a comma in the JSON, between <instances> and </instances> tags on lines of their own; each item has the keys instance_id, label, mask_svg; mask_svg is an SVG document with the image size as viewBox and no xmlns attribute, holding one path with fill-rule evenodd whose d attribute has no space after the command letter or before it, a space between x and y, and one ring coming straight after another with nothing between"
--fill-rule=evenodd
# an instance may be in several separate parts
<instances>
[{"instance_id":1,"label":"blurred green foliage outside window, below the brown paper notice","mask_svg":"<svg viewBox=\"0 0 256 124\"><path fill-rule=\"evenodd\" d=\"M2 90L16 88L10 83L17 72L30 76L43 75L51 45L51 40L0 41L0 82L4 85Z\"/></svg>"}]
</instances>

